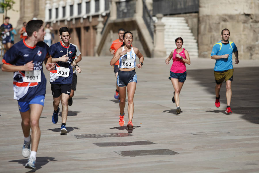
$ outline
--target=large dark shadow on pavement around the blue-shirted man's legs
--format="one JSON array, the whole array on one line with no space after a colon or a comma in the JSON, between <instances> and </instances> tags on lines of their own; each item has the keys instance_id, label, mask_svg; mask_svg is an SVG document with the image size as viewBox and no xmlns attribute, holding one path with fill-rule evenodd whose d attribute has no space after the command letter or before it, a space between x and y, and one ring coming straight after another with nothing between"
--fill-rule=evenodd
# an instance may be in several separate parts
<instances>
[{"instance_id":1,"label":"large dark shadow on pavement around the blue-shirted man's legs","mask_svg":"<svg viewBox=\"0 0 259 173\"><path fill-rule=\"evenodd\" d=\"M231 110L235 114L242 114L242 119L256 124L259 124L259 107L257 107L259 105L258 73L258 67L234 68L231 99L231 105L237 106L231 107ZM213 69L187 70L187 76L195 79L199 85L205 87L206 92L215 95L216 82ZM226 104L225 93L226 83L223 82L220 90L220 95L222 96L220 102L224 104ZM215 101L215 97L211 99L212 102ZM251 105L251 107L246 105ZM226 114L224 110L216 110L216 108L207 112Z\"/></svg>"}]
</instances>

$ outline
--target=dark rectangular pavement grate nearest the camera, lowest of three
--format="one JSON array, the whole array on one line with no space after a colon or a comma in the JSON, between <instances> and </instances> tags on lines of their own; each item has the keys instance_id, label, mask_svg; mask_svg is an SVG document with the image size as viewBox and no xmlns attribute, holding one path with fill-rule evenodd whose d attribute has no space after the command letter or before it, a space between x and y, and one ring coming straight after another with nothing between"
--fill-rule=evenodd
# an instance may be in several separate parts
<instances>
[{"instance_id":1,"label":"dark rectangular pavement grate nearest the camera, lowest of three","mask_svg":"<svg viewBox=\"0 0 259 173\"><path fill-rule=\"evenodd\" d=\"M119 151L116 152L122 156L146 156L146 155L176 155L179 154L169 149L158 149L158 150L133 150L133 151Z\"/></svg>"}]
</instances>

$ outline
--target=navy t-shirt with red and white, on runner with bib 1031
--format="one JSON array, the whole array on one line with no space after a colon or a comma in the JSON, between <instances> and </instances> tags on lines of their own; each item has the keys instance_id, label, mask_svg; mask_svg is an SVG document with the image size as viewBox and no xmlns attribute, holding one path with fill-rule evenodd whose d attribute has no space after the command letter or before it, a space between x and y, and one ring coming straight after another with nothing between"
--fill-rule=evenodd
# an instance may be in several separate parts
<instances>
[{"instance_id":1,"label":"navy t-shirt with red and white, on runner with bib 1031","mask_svg":"<svg viewBox=\"0 0 259 173\"><path fill-rule=\"evenodd\" d=\"M14 44L3 57L3 63L12 65L25 65L33 61L34 70L40 70L41 82L24 82L25 71L14 72L14 99L19 101L31 101L37 95L45 95L46 78L42 70L42 63L48 54L49 46L44 42L38 42L36 46L26 45L25 40Z\"/></svg>"}]
</instances>

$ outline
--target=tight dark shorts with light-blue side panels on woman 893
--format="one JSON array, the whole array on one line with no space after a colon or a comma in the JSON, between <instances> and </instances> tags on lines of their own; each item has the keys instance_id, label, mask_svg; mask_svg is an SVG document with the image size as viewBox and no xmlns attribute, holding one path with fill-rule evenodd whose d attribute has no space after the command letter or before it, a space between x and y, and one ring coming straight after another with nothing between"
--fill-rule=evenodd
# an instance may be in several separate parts
<instances>
[{"instance_id":1,"label":"tight dark shorts with light-blue side panels on woman 893","mask_svg":"<svg viewBox=\"0 0 259 173\"><path fill-rule=\"evenodd\" d=\"M136 82L137 83L137 74L135 70L129 72L123 72L119 70L118 77L117 77L117 85L119 87L127 86L129 82Z\"/></svg>"}]
</instances>

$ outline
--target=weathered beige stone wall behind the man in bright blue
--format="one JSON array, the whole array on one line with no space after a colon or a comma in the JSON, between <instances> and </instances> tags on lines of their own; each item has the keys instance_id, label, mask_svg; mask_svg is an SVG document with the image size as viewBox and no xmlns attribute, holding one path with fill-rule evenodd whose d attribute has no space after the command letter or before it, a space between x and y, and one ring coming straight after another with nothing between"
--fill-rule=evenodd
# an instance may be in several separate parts
<instances>
[{"instance_id":1,"label":"weathered beige stone wall behind the man in bright blue","mask_svg":"<svg viewBox=\"0 0 259 173\"><path fill-rule=\"evenodd\" d=\"M221 40L222 29L227 28L239 58L259 60L258 9L258 0L199 0L199 57L210 57L212 46Z\"/></svg>"}]
</instances>

